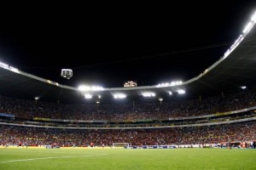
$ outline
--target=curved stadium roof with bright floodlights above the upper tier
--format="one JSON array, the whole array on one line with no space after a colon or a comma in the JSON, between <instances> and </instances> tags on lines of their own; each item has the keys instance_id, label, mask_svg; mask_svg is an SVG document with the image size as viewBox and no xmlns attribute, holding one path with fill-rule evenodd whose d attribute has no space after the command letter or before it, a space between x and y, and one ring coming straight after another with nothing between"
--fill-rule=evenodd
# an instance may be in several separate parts
<instances>
[{"instance_id":1,"label":"curved stadium roof with bright floodlights above the upper tier","mask_svg":"<svg viewBox=\"0 0 256 170\"><path fill-rule=\"evenodd\" d=\"M254 17L256 18L256 16ZM65 86L41 77L0 63L0 94L19 98L60 102L84 102L84 94L90 94L89 101L110 101L113 96L139 99L146 95L153 95L154 99L169 99L170 93L177 94L179 90L185 95L203 95L221 93L241 86L253 86L256 82L256 19L250 21L247 28L237 37L236 42L227 49L224 56L214 63L198 77L194 77L179 84L169 83L153 86L130 88L87 88L81 93L78 88ZM254 27L253 27L254 26ZM121 95L119 95L121 94ZM101 96L101 99L99 99Z\"/></svg>"}]
</instances>

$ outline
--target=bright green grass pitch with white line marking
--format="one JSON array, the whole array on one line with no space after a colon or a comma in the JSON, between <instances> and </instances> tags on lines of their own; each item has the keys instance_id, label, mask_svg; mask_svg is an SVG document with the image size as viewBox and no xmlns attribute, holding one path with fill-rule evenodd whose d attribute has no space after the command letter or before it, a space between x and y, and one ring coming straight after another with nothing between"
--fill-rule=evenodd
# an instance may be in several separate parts
<instances>
[{"instance_id":1,"label":"bright green grass pitch with white line marking","mask_svg":"<svg viewBox=\"0 0 256 170\"><path fill-rule=\"evenodd\" d=\"M0 169L256 169L256 150L1 148Z\"/></svg>"}]
</instances>

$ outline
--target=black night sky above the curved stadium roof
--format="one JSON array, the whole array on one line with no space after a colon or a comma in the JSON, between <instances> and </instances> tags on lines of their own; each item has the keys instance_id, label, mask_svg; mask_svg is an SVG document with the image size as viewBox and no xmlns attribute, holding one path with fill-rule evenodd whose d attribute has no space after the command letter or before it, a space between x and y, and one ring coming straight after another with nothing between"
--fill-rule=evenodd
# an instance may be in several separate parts
<instances>
[{"instance_id":1,"label":"black night sky above the curved stadium roof","mask_svg":"<svg viewBox=\"0 0 256 170\"><path fill-rule=\"evenodd\" d=\"M1 3L0 61L74 87L186 81L223 56L255 3Z\"/></svg>"}]
</instances>

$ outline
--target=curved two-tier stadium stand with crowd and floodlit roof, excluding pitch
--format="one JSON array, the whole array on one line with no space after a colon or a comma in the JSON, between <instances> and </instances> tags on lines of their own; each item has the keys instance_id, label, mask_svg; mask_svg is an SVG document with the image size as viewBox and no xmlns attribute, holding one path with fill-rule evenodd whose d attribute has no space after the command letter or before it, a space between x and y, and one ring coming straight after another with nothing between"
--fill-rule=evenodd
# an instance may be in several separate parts
<instances>
[{"instance_id":1,"label":"curved two-tier stadium stand with crowd and floodlit roof, excluding pitch","mask_svg":"<svg viewBox=\"0 0 256 170\"><path fill-rule=\"evenodd\" d=\"M224 56L186 82L81 91L0 62L0 143L255 148L255 16ZM157 98L143 99L148 94Z\"/></svg>"}]
</instances>

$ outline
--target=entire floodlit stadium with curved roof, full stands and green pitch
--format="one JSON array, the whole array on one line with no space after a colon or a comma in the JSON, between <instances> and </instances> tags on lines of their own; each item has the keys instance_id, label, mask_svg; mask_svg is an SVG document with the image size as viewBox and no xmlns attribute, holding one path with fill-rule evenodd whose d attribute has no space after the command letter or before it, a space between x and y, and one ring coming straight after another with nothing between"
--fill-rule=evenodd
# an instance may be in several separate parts
<instances>
[{"instance_id":1,"label":"entire floodlit stadium with curved roof, full stands and green pitch","mask_svg":"<svg viewBox=\"0 0 256 170\"><path fill-rule=\"evenodd\" d=\"M255 23L184 82L76 88L0 61L0 169L255 169Z\"/></svg>"}]
</instances>

